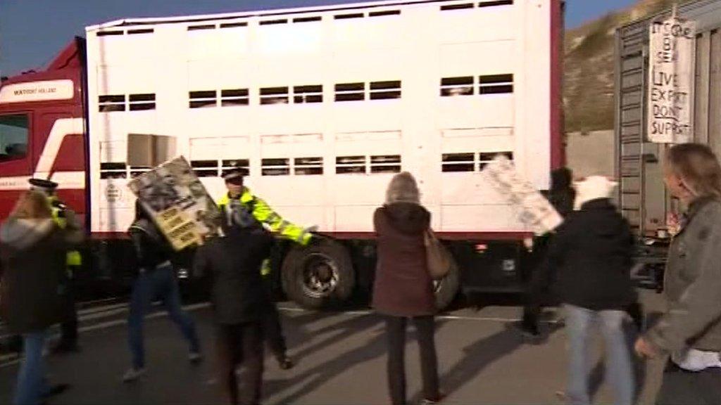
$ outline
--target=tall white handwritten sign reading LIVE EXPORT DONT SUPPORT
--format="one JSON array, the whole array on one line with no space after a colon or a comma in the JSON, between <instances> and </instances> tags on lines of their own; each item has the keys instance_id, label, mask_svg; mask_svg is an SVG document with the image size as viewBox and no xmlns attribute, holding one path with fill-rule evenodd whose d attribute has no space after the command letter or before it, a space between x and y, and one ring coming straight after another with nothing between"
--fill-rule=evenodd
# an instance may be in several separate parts
<instances>
[{"instance_id":1,"label":"tall white handwritten sign reading LIVE EXPORT DONT SUPPORT","mask_svg":"<svg viewBox=\"0 0 721 405\"><path fill-rule=\"evenodd\" d=\"M650 27L648 139L684 143L691 132L696 25L671 17Z\"/></svg>"}]
</instances>

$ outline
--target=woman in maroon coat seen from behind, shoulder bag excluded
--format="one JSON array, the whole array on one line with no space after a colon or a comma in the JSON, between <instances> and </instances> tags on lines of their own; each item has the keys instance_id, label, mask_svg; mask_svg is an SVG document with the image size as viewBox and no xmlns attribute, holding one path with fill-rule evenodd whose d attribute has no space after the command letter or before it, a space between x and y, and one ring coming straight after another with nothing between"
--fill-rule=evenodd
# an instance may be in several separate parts
<instances>
[{"instance_id":1,"label":"woman in maroon coat seen from behind, shoulder bag excluded","mask_svg":"<svg viewBox=\"0 0 721 405\"><path fill-rule=\"evenodd\" d=\"M425 259L425 231L430 213L420 205L420 192L410 173L389 184L386 203L373 214L378 265L373 308L386 321L388 385L393 405L406 403L404 347L407 320L417 331L423 375L423 404L434 404L438 392L438 360L433 334L435 296Z\"/></svg>"}]
</instances>

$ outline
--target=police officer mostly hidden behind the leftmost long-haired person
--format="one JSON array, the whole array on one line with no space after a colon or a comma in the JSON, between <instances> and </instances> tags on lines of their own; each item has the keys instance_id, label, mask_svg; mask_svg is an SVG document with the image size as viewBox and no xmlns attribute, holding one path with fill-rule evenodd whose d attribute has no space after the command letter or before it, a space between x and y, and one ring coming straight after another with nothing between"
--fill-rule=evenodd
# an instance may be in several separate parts
<instances>
[{"instance_id":1,"label":"police officer mostly hidden behind the leftmost long-haired person","mask_svg":"<svg viewBox=\"0 0 721 405\"><path fill-rule=\"evenodd\" d=\"M30 179L31 190L43 192L53 213L53 221L60 228L80 235L83 231L73 210L68 208L56 195L58 183L45 179ZM80 238L75 238L80 239ZM66 278L62 282L63 293L63 322L61 323L61 337L53 352L67 353L78 351L78 313L75 307L75 272L82 265L80 252L68 250L66 254Z\"/></svg>"}]
</instances>

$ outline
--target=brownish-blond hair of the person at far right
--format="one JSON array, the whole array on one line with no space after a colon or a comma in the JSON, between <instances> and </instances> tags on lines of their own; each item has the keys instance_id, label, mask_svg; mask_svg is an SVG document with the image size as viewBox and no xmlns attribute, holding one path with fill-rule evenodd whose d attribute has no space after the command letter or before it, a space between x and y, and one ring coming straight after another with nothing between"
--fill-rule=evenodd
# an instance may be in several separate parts
<instances>
[{"instance_id":1,"label":"brownish-blond hair of the person at far right","mask_svg":"<svg viewBox=\"0 0 721 405\"><path fill-rule=\"evenodd\" d=\"M668 150L666 161L694 198L721 199L721 166L711 148L700 143L681 143Z\"/></svg>"}]
</instances>

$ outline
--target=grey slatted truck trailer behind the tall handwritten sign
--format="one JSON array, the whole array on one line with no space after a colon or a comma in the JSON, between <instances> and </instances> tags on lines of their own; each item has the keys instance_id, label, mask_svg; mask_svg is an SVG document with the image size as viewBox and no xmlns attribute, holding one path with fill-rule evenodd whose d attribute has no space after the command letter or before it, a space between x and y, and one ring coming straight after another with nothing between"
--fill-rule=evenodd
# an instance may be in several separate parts
<instances>
[{"instance_id":1,"label":"grey slatted truck trailer behind the tall handwritten sign","mask_svg":"<svg viewBox=\"0 0 721 405\"><path fill-rule=\"evenodd\" d=\"M677 16L695 23L691 79L690 141L705 143L721 153L721 1L696 0L680 4ZM650 30L673 14L658 14L629 22L615 37L615 139L619 208L643 242L637 251L634 275L650 287L663 288L669 234L666 217L679 213L678 201L663 184L665 143L649 137L648 115ZM667 92L668 93L668 92ZM659 92L655 97L663 99Z\"/></svg>"}]
</instances>

